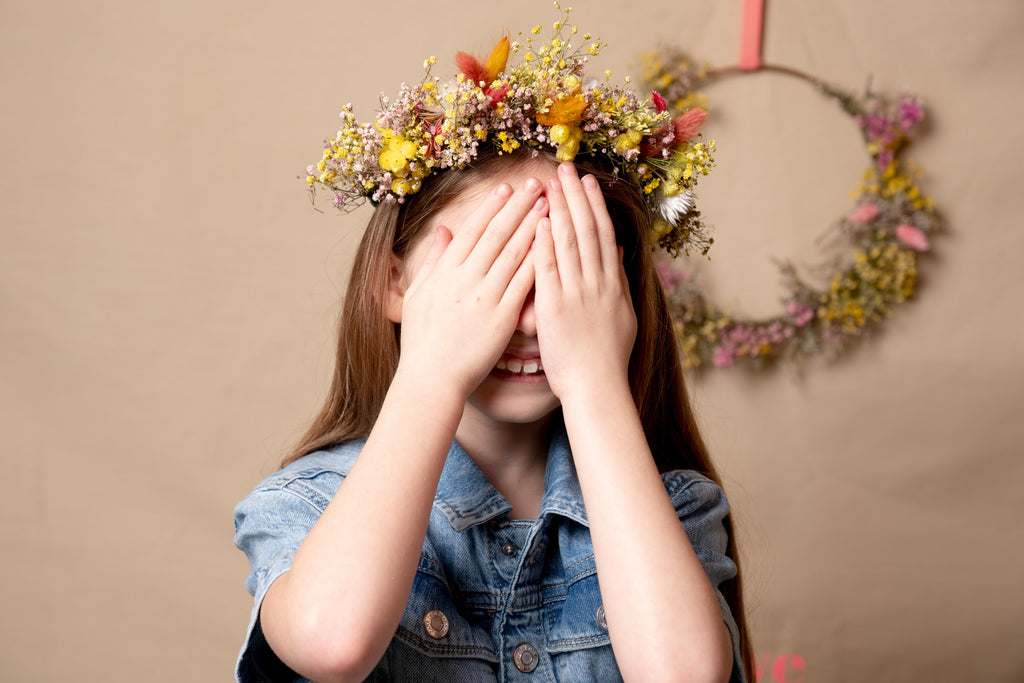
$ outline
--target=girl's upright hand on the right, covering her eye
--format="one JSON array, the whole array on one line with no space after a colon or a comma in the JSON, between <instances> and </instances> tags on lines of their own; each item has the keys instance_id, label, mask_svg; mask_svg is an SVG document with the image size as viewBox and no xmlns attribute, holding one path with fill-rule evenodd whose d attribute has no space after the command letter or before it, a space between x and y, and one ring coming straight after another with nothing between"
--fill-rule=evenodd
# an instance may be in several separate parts
<instances>
[{"instance_id":1,"label":"girl's upright hand on the right, covering her eye","mask_svg":"<svg viewBox=\"0 0 1024 683\"><path fill-rule=\"evenodd\" d=\"M636 338L615 228L597 179L571 164L548 181L549 218L538 227L537 330L544 372L562 403L629 381Z\"/></svg>"}]
</instances>

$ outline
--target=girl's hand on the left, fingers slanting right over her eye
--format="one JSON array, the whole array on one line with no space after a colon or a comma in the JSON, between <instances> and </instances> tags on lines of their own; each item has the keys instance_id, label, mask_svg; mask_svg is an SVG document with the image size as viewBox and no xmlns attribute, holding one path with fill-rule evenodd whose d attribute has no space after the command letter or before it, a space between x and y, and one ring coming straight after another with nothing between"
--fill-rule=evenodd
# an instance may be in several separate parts
<instances>
[{"instance_id":1,"label":"girl's hand on the left, fingers slanting right over her eye","mask_svg":"<svg viewBox=\"0 0 1024 683\"><path fill-rule=\"evenodd\" d=\"M404 290L399 372L426 373L463 400L490 372L534 287L530 247L548 209L542 189L536 178L516 191L501 183L479 201L441 211L439 222L458 225L438 224Z\"/></svg>"}]
</instances>

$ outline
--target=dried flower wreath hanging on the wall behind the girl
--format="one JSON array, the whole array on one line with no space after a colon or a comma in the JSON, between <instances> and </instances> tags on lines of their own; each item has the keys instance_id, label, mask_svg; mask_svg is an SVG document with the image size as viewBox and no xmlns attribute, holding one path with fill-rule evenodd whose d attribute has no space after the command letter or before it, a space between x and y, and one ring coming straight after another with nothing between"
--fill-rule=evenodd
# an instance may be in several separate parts
<instances>
[{"instance_id":1,"label":"dried flower wreath hanging on the wall behind the girl","mask_svg":"<svg viewBox=\"0 0 1024 683\"><path fill-rule=\"evenodd\" d=\"M646 84L681 111L707 109L697 87L739 73L709 71L675 49L643 55L643 69ZM913 296L918 256L929 250L929 236L940 227L931 199L918 186L920 170L900 162L910 129L924 119L918 97L887 99L869 87L855 96L785 67L765 65L761 70L810 82L860 127L871 165L852 193L853 209L830 232L845 240L850 251L813 269L824 273L824 287L802 280L792 263L783 263L784 311L766 319L730 314L707 300L690 273L660 263L684 368L835 358L889 317L893 306Z\"/></svg>"}]
</instances>

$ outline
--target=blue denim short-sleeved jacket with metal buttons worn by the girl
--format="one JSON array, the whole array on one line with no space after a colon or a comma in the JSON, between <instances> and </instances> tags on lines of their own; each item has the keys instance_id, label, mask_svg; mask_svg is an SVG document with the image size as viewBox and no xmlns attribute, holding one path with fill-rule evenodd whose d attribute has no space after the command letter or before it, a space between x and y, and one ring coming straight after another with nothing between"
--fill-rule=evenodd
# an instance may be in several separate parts
<instances>
[{"instance_id":1,"label":"blue denim short-sleeved jacket with metal buttons worn by the girl","mask_svg":"<svg viewBox=\"0 0 1024 683\"><path fill-rule=\"evenodd\" d=\"M342 484L362 442L310 454L260 482L234 510L234 545L249 558L246 588L255 598L237 680L303 681L266 645L259 605L287 571L296 550ZM725 556L722 519L728 502L713 481L694 472L663 475L712 585L735 575ZM399 492L396 492L399 495ZM552 441L540 518L509 519L511 505L476 464L452 445L437 485L413 590L391 644L370 681L620 681L608 633L583 494L564 432ZM506 544L514 552L503 552ZM352 549L357 561L358 549ZM741 683L736 625L719 593L732 633L733 683ZM429 610L447 617L449 631L431 637ZM356 626L357 628L357 626ZM539 653L521 672L516 647Z\"/></svg>"}]
</instances>

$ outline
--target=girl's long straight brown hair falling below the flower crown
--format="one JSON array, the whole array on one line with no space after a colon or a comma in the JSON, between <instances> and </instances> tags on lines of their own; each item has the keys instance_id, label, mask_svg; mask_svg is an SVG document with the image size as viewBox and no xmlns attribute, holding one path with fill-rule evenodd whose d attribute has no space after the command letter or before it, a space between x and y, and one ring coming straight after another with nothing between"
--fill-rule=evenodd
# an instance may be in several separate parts
<instances>
[{"instance_id":1,"label":"girl's long straight brown hair falling below the flower crown","mask_svg":"<svg viewBox=\"0 0 1024 683\"><path fill-rule=\"evenodd\" d=\"M476 183L526 160L556 163L548 153L521 151L499 155L481 147L472 166L446 171L423 182L404 204L377 207L359 243L345 293L338 333L337 360L327 399L287 465L313 451L370 434L398 365L398 326L385 314L391 255L403 258L423 237L430 218ZM581 173L597 177L616 226L637 316L637 337L630 357L630 386L654 461L660 471L695 470L721 484L697 430L683 383L676 337L657 280L648 240L650 216L642 188L615 175L602 158L578 157ZM753 652L743 610L739 558L732 516L726 553L736 577L720 588L739 627L743 668L753 672Z\"/></svg>"}]
</instances>

